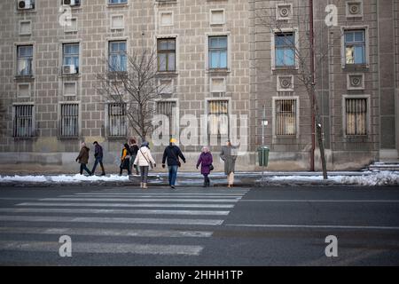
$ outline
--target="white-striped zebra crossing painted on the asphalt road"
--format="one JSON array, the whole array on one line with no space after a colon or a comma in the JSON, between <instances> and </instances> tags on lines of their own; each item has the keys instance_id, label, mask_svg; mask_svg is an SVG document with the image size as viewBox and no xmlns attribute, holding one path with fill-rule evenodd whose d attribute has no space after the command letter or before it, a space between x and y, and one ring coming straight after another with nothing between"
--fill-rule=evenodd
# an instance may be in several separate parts
<instances>
[{"instance_id":1,"label":"white-striped zebra crossing painted on the asphalt road","mask_svg":"<svg viewBox=\"0 0 399 284\"><path fill-rule=\"evenodd\" d=\"M75 254L200 256L247 191L115 188L23 200L0 208L0 252L58 254L68 235Z\"/></svg>"}]
</instances>

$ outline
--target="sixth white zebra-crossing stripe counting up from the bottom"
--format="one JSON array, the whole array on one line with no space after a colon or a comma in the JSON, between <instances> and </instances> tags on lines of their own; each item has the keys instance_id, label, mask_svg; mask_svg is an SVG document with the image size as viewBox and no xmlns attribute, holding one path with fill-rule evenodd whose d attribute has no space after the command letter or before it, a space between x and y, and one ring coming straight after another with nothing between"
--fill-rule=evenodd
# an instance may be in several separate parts
<instances>
[{"instance_id":1,"label":"sixth white zebra-crossing stripe counting up from the bottom","mask_svg":"<svg viewBox=\"0 0 399 284\"><path fill-rule=\"evenodd\" d=\"M38 201L115 201L115 202L140 202L140 201L158 201L158 202L238 202L239 199L124 199L124 198L43 198Z\"/></svg>"}]
</instances>

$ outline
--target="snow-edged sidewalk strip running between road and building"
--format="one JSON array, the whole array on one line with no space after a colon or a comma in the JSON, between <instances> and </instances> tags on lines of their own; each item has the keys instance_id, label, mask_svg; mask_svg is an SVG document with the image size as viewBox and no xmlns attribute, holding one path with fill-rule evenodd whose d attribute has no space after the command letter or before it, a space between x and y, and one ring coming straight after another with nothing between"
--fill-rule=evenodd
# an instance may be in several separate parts
<instances>
[{"instance_id":1,"label":"snow-edged sidewalk strip running between road and building","mask_svg":"<svg viewBox=\"0 0 399 284\"><path fill-rule=\"evenodd\" d=\"M236 186L312 186L312 185L391 185L399 188L399 172L397 171L335 171L329 172L329 179L324 180L321 172L236 172ZM223 172L213 172L211 185L225 186L227 183ZM107 185L137 186L139 176L107 175L0 175L0 186L52 186L52 185ZM150 186L168 186L168 173L152 172L149 175ZM201 186L203 177L198 172L179 172L177 185Z\"/></svg>"}]
</instances>

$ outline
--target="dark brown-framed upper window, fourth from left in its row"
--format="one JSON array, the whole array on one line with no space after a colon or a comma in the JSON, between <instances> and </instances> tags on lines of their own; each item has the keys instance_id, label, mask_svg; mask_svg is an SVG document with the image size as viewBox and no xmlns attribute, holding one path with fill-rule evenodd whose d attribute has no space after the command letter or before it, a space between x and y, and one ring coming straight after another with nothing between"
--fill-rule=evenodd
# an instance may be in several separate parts
<instances>
[{"instance_id":1,"label":"dark brown-framed upper window, fourth from left in its row","mask_svg":"<svg viewBox=\"0 0 399 284\"><path fill-rule=\"evenodd\" d=\"M176 70L176 38L158 39L158 71Z\"/></svg>"}]
</instances>

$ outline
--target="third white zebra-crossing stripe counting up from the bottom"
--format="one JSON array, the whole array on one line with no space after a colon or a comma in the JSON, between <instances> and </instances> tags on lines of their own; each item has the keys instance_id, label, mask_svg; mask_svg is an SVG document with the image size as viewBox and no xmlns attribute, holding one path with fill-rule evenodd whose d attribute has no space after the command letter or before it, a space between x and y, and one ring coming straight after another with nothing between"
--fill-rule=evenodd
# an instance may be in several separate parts
<instances>
[{"instance_id":1,"label":"third white zebra-crossing stripe counting up from the bottom","mask_svg":"<svg viewBox=\"0 0 399 284\"><path fill-rule=\"evenodd\" d=\"M0 216L0 221L155 224L155 225L222 225L223 224L223 220L216 220L216 219L126 218L126 217L54 217L54 216L15 216L15 215Z\"/></svg>"}]
</instances>

